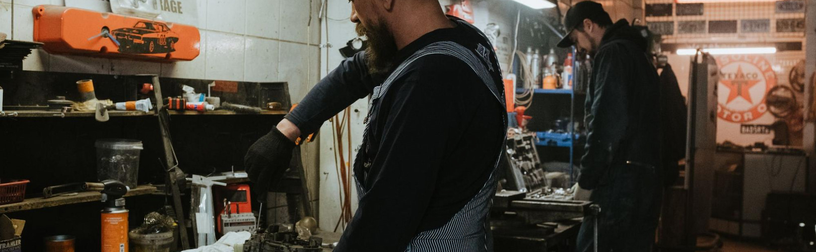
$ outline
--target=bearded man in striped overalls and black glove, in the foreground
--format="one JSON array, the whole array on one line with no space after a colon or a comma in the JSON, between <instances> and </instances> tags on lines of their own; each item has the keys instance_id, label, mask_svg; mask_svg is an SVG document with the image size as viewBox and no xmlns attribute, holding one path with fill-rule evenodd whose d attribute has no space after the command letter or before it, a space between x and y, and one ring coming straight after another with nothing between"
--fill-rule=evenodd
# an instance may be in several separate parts
<instances>
[{"instance_id":1,"label":"bearded man in striped overalls and black glove, in the foreground","mask_svg":"<svg viewBox=\"0 0 816 252\"><path fill-rule=\"evenodd\" d=\"M486 228L507 129L493 45L437 0L352 0L369 47L344 60L246 154L260 199L295 139L370 95L358 208L335 251L491 251Z\"/></svg>"}]
</instances>

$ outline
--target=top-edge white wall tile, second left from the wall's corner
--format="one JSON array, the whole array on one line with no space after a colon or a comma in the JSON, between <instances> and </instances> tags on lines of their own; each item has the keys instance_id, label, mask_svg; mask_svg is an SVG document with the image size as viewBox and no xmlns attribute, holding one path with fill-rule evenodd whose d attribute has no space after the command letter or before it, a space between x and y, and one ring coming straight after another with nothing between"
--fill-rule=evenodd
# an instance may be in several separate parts
<instances>
[{"instance_id":1,"label":"top-edge white wall tile, second left from the wall's corner","mask_svg":"<svg viewBox=\"0 0 816 252\"><path fill-rule=\"evenodd\" d=\"M246 35L261 38L279 38L278 31L281 29L280 10L281 0L246 2Z\"/></svg>"}]
</instances>

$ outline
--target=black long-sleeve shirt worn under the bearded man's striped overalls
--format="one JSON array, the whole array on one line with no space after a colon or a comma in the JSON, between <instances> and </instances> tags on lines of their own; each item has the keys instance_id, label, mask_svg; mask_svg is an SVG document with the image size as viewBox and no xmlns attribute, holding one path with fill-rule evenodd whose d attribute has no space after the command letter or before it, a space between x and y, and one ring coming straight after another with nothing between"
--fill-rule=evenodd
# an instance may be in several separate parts
<instances>
[{"instance_id":1,"label":"black long-sleeve shirt worn under the bearded man's striped overalls","mask_svg":"<svg viewBox=\"0 0 816 252\"><path fill-rule=\"evenodd\" d=\"M411 42L394 65L442 41L472 51L491 47L459 24ZM501 83L494 52L481 52L490 76ZM307 135L380 82L366 72L365 55L358 53L319 82L287 118ZM428 55L408 65L380 99L368 122L372 161L365 181L359 181L367 192L335 251L406 250L417 233L441 227L471 201L490 177L503 144L503 107L468 64L450 55Z\"/></svg>"}]
</instances>

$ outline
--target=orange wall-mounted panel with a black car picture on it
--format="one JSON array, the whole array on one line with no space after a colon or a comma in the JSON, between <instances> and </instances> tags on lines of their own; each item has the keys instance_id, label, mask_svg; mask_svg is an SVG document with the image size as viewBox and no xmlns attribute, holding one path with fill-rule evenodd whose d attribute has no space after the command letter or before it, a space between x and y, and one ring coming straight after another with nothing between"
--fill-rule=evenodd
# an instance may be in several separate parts
<instances>
[{"instance_id":1,"label":"orange wall-mounted panel with a black car picture on it","mask_svg":"<svg viewBox=\"0 0 816 252\"><path fill-rule=\"evenodd\" d=\"M52 5L32 12L34 41L50 53L175 61L193 60L200 49L190 25Z\"/></svg>"}]
</instances>

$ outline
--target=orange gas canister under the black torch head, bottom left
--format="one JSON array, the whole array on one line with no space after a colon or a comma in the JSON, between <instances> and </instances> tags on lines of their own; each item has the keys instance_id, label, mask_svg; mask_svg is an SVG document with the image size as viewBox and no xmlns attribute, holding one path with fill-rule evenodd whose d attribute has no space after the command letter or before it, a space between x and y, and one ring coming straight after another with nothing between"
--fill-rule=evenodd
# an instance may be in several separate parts
<instances>
[{"instance_id":1,"label":"orange gas canister under the black torch head, bottom left","mask_svg":"<svg viewBox=\"0 0 816 252\"><path fill-rule=\"evenodd\" d=\"M102 252L128 252L125 199L113 200L102 210Z\"/></svg>"}]
</instances>

